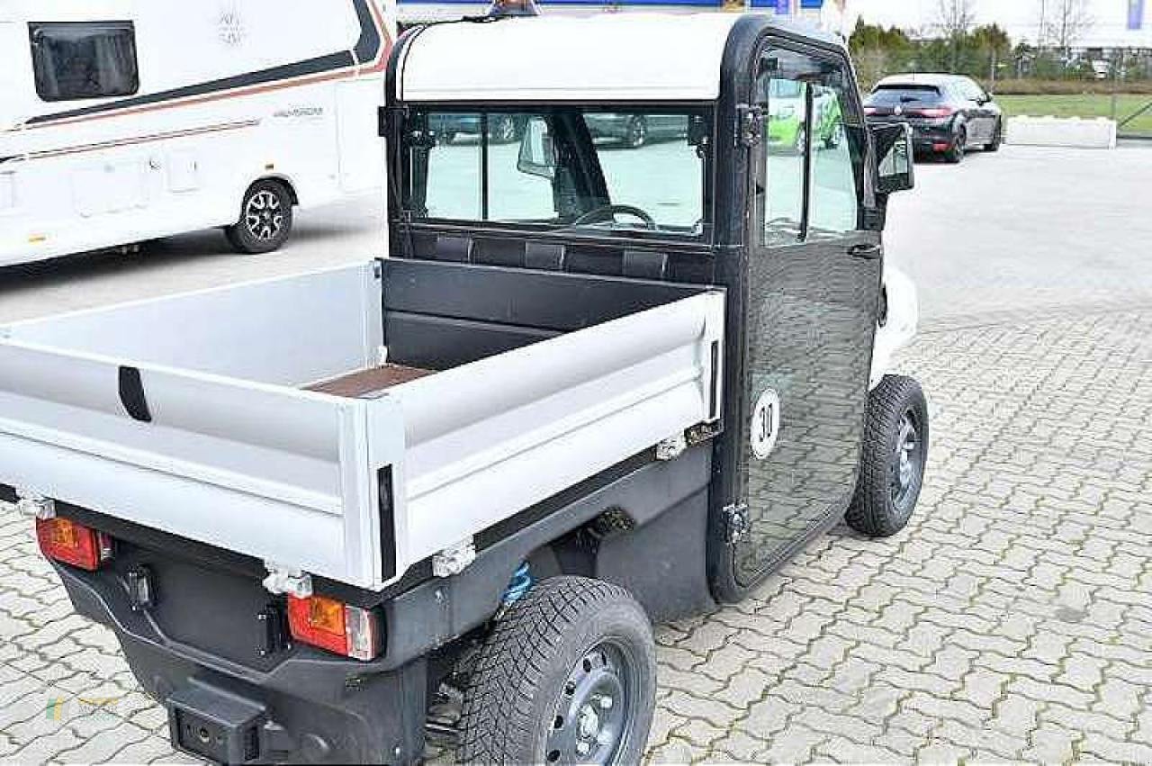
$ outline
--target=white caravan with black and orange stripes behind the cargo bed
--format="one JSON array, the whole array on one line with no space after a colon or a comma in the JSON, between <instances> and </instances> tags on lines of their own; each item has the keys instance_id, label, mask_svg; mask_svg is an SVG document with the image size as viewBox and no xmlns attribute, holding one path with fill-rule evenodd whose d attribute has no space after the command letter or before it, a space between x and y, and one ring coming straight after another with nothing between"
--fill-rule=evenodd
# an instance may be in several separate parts
<instances>
[{"instance_id":1,"label":"white caravan with black and orange stripes behind the cargo bed","mask_svg":"<svg viewBox=\"0 0 1152 766\"><path fill-rule=\"evenodd\" d=\"M394 0L0 0L0 266L379 189Z\"/></svg>"}]
</instances>

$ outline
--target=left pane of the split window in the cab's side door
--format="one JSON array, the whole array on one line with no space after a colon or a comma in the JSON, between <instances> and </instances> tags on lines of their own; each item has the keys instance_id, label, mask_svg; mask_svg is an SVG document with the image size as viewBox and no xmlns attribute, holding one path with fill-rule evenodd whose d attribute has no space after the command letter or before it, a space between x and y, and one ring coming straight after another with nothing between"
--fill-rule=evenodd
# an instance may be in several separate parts
<instances>
[{"instance_id":1,"label":"left pane of the split window in the cab's side door","mask_svg":"<svg viewBox=\"0 0 1152 766\"><path fill-rule=\"evenodd\" d=\"M760 60L757 101L765 109L764 243L798 242L804 222L804 152L808 85L798 79L803 56L768 51Z\"/></svg>"}]
</instances>

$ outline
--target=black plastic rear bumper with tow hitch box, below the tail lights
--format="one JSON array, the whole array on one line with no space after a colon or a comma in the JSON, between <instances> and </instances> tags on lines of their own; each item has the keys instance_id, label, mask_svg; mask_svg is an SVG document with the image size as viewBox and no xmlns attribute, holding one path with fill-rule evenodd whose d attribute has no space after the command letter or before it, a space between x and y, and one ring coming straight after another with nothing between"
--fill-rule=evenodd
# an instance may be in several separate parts
<instances>
[{"instance_id":1,"label":"black plastic rear bumper with tow hitch box, below the tail lights","mask_svg":"<svg viewBox=\"0 0 1152 766\"><path fill-rule=\"evenodd\" d=\"M237 763L408 764L423 754L423 660L362 675L362 663L304 652L257 672L166 638L108 578L55 568L76 610L115 631L134 675L168 708L177 749Z\"/></svg>"}]
</instances>

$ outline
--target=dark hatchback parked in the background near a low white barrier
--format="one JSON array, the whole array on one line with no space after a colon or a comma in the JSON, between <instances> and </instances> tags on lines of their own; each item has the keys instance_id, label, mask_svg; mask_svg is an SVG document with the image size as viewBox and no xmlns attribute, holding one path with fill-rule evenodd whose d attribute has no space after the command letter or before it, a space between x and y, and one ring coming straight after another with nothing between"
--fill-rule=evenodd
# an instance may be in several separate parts
<instances>
[{"instance_id":1,"label":"dark hatchback parked in the background near a low white barrier","mask_svg":"<svg viewBox=\"0 0 1152 766\"><path fill-rule=\"evenodd\" d=\"M905 122L917 151L960 162L972 146L994 152L1003 141L1003 112L970 77L911 74L881 79L864 101L870 122Z\"/></svg>"}]
</instances>

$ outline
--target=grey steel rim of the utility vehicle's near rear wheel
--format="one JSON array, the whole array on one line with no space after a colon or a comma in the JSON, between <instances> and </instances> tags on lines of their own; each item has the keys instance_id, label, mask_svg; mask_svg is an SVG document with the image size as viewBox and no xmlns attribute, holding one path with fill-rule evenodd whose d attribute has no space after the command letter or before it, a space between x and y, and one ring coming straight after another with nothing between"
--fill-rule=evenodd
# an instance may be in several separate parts
<instances>
[{"instance_id":1,"label":"grey steel rim of the utility vehicle's near rear wheel","mask_svg":"<svg viewBox=\"0 0 1152 766\"><path fill-rule=\"evenodd\" d=\"M632 735L639 669L621 643L605 639L568 674L545 741L547 764L615 764Z\"/></svg>"}]
</instances>

